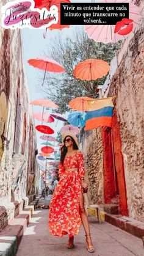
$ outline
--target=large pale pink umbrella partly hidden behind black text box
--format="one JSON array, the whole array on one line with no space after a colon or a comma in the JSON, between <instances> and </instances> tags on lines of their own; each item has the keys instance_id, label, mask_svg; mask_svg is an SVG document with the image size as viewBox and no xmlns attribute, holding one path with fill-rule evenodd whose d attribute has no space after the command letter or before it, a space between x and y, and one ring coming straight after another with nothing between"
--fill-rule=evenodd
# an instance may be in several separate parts
<instances>
[{"instance_id":1,"label":"large pale pink umbrella partly hidden behind black text box","mask_svg":"<svg viewBox=\"0 0 144 256\"><path fill-rule=\"evenodd\" d=\"M129 2L129 19L134 20L134 27L139 24L140 10L137 5L133 4L130 0L103 0L103 3L125 3ZM85 32L88 37L96 42L103 43L117 43L118 40L123 40L125 35L115 34L115 25L85 25Z\"/></svg>"}]
</instances>

